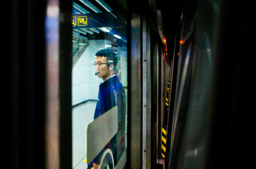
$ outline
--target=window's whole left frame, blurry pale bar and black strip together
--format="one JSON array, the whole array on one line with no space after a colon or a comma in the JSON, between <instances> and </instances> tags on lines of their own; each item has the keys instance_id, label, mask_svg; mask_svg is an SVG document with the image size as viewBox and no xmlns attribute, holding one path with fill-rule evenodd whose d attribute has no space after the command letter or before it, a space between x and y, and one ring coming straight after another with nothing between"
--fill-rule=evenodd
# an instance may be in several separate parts
<instances>
[{"instance_id":1,"label":"window's whole left frame, blurry pale bar and black strip together","mask_svg":"<svg viewBox=\"0 0 256 169\"><path fill-rule=\"evenodd\" d=\"M70 6L71 2L47 1L45 166L49 169L72 167Z\"/></svg>"}]
</instances>

